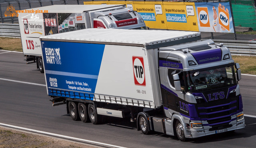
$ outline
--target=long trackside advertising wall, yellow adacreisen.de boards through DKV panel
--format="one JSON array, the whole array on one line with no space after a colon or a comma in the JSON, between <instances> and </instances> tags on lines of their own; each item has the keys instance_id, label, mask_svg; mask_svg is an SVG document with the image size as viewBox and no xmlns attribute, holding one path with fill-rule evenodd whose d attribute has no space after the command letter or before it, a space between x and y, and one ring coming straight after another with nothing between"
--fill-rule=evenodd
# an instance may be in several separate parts
<instances>
[{"instance_id":1,"label":"long trackside advertising wall, yellow adacreisen.de boards through DKV panel","mask_svg":"<svg viewBox=\"0 0 256 148\"><path fill-rule=\"evenodd\" d=\"M126 4L140 14L149 28L234 33L229 2L93 1L84 4Z\"/></svg>"}]
</instances>

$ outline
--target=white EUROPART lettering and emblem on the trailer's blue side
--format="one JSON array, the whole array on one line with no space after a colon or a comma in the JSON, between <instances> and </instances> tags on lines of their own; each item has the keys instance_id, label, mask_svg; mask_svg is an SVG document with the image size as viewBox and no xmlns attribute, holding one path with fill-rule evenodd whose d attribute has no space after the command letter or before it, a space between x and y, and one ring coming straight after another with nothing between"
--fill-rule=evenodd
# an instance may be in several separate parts
<instances>
[{"instance_id":1,"label":"white EUROPART lettering and emblem on the trailer's blue side","mask_svg":"<svg viewBox=\"0 0 256 148\"><path fill-rule=\"evenodd\" d=\"M60 48L44 48L44 50L47 64L61 64Z\"/></svg>"}]
</instances>

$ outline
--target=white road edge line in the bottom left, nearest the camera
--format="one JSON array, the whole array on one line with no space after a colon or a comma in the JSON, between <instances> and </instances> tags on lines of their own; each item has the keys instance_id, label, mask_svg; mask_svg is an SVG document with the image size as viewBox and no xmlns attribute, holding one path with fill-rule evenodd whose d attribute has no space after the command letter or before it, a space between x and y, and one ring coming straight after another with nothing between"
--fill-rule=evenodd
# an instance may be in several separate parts
<instances>
[{"instance_id":1,"label":"white road edge line in the bottom left, nearest the camera","mask_svg":"<svg viewBox=\"0 0 256 148\"><path fill-rule=\"evenodd\" d=\"M59 137L59 138L77 140L77 141L86 142L86 143L90 143L90 144L98 144L98 145L101 145L101 146L109 146L109 147L114 147L114 148L125 148L125 147L122 147L122 146L115 146L115 145L112 145L112 144L106 144L106 143L102 143L102 142L85 140L85 139L80 139L80 138L75 138L75 137L70 137L70 136L64 136L64 135L54 134L54 133L50 133L50 132L43 132L43 131L40 131L40 130L32 130L32 129L29 129L29 128L22 128L22 127L19 127L19 126L13 126L13 125L4 124L4 123L0 123L0 125L10 127L10 128L16 128L16 129L20 129L20 130L26 130L26 131L30 131L30 132L36 132L36 133L40 133L40 134L56 136L56 137Z\"/></svg>"}]
</instances>

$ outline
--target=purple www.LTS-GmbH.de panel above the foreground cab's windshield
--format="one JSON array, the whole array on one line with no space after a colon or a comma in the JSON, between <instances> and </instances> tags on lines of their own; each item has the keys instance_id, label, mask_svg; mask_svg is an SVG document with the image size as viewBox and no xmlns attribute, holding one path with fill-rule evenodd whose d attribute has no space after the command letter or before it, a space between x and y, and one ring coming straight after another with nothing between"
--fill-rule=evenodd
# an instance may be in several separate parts
<instances>
[{"instance_id":1,"label":"purple www.LTS-GmbH.de panel above the foreground cab's windshield","mask_svg":"<svg viewBox=\"0 0 256 148\"><path fill-rule=\"evenodd\" d=\"M222 51L220 48L202 52L195 52L191 54L192 56L194 56L198 64L206 64L222 60Z\"/></svg>"}]
</instances>

